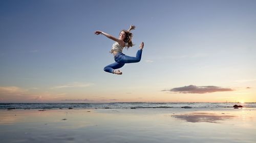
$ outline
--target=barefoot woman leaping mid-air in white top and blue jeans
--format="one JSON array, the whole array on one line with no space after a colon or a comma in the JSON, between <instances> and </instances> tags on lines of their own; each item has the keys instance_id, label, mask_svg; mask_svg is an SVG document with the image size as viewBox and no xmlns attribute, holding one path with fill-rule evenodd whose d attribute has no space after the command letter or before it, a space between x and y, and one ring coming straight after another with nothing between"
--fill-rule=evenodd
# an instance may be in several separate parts
<instances>
[{"instance_id":1,"label":"barefoot woman leaping mid-air in white top and blue jeans","mask_svg":"<svg viewBox=\"0 0 256 143\"><path fill-rule=\"evenodd\" d=\"M116 62L113 64L110 64L108 66L105 66L104 67L105 72L114 73L114 74L122 74L122 72L119 70L119 68L123 67L124 64L140 62L142 49L144 47L143 42L141 42L141 44L139 45L139 50L136 53L136 57L127 56L122 53L124 47L126 47L128 49L129 47L132 47L134 45L132 43L133 34L130 33L131 30L135 30L135 26L132 24L131 24L129 30L127 30L127 31L122 30L120 32L119 38L115 38L107 33L102 32L102 31L94 32L94 34L96 34L96 35L102 34L102 35L108 37L109 39L115 41L110 53L113 53L114 60Z\"/></svg>"}]
</instances>

